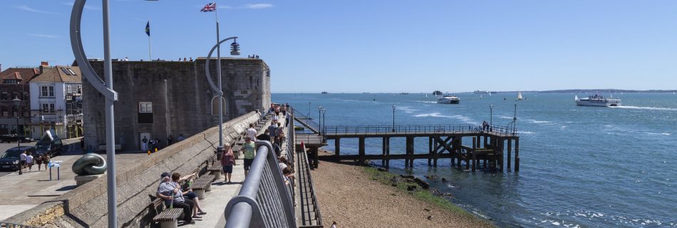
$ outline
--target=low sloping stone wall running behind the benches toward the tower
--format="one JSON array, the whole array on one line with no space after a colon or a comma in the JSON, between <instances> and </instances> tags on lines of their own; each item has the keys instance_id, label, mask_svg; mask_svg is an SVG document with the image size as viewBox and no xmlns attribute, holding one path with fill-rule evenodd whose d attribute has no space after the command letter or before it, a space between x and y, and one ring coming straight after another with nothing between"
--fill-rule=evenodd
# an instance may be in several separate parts
<instances>
[{"instance_id":1,"label":"low sloping stone wall running behind the benches toward the tower","mask_svg":"<svg viewBox=\"0 0 677 228\"><path fill-rule=\"evenodd\" d=\"M259 120L259 114L248 113L224 124L224 142L238 140L249 123ZM155 196L162 172L188 174L205 167L215 157L219 143L218 127L197 133L182 142L166 147L125 172L118 172L118 226L148 227L150 195ZM30 209L7 219L7 222L35 227L106 227L106 177L88 182L52 202Z\"/></svg>"}]
</instances>

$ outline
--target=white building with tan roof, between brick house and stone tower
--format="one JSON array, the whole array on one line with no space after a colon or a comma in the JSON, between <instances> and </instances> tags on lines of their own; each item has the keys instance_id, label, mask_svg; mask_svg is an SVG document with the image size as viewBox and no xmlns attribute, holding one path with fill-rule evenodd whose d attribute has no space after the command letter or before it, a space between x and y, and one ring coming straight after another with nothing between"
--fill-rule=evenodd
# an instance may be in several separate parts
<instances>
[{"instance_id":1,"label":"white building with tan roof, between brick house and stone tower","mask_svg":"<svg viewBox=\"0 0 677 228\"><path fill-rule=\"evenodd\" d=\"M29 81L31 132L41 138L54 129L59 138L82 136L82 78L77 66L41 66L41 74Z\"/></svg>"}]
</instances>

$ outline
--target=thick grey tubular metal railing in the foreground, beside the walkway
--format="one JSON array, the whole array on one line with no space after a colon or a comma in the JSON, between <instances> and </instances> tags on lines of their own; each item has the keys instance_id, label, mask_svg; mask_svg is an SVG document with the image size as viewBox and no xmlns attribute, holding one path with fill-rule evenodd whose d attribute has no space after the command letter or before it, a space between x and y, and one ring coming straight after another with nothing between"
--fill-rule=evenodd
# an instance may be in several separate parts
<instances>
[{"instance_id":1,"label":"thick grey tubular metal railing in the foreground, beside the walkway","mask_svg":"<svg viewBox=\"0 0 677 228\"><path fill-rule=\"evenodd\" d=\"M294 204L272 144L257 141L257 155L244 184L224 211L224 227L296 227Z\"/></svg>"}]
</instances>

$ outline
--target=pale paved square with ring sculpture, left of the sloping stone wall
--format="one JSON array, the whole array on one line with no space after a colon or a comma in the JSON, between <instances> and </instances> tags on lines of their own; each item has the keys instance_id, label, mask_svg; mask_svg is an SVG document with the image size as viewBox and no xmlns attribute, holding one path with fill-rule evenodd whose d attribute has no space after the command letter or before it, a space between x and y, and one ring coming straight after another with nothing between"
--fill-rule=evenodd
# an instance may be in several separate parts
<instances>
[{"instance_id":1,"label":"pale paved square with ring sculpture, left of the sloping stone wall","mask_svg":"<svg viewBox=\"0 0 677 228\"><path fill-rule=\"evenodd\" d=\"M84 152L80 150L79 140L63 140L66 150L63 155L52 157L52 161L62 161L60 175L57 179L57 170L52 168L52 180L49 180L49 171L38 171L33 165L31 172L10 172L0 177L0 221L31 209L38 204L55 199L76 187L74 180L76 174L71 167ZM105 157L105 155L102 155ZM115 155L115 163L118 170L123 170L128 165L136 162L140 157L147 154L120 154Z\"/></svg>"}]
</instances>

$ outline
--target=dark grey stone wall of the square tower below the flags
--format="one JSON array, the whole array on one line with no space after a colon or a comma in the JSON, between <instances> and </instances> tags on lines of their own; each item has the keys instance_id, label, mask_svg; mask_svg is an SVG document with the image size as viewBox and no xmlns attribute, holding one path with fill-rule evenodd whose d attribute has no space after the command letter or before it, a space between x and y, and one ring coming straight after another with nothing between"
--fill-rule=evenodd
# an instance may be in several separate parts
<instances>
[{"instance_id":1,"label":"dark grey stone wall of the square tower below the flags","mask_svg":"<svg viewBox=\"0 0 677 228\"><path fill-rule=\"evenodd\" d=\"M103 62L92 66L103 77ZM212 61L210 66L215 66ZM224 121L270 103L269 68L260 59L223 58L222 86L226 99ZM212 68L216 78L216 68ZM83 77L83 127L86 146L105 144L103 95ZM212 115L215 93L205 78L205 60L193 62L113 62L115 103L115 142L123 150L140 150L140 133L150 133L164 147L167 137L190 136L218 124ZM217 99L214 99L218 101ZM153 103L153 123L139 123L139 102ZM218 107L218 105L216 105ZM218 110L218 109L216 109ZM176 140L175 140L176 142Z\"/></svg>"}]
</instances>

